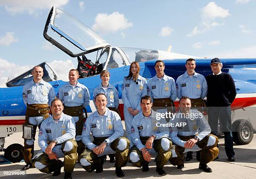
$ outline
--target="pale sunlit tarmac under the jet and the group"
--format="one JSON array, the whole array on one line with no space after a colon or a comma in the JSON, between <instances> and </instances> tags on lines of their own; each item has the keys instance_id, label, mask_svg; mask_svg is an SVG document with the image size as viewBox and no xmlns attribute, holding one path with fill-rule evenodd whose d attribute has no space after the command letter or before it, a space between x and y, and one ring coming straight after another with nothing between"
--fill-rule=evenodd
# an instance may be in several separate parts
<instances>
[{"instance_id":1,"label":"pale sunlit tarmac under the jet and the group","mask_svg":"<svg viewBox=\"0 0 256 179\"><path fill-rule=\"evenodd\" d=\"M38 132L38 131L37 131ZM22 133L14 133L9 137L5 138L5 148L12 143L20 143L23 145L23 139L21 138ZM37 135L36 135L37 136ZM36 139L37 141L37 139ZM254 132L254 137L251 143L243 146L238 146L234 143L234 151L236 153L235 162L229 162L225 154L224 148L224 136L219 137L219 150L220 155L219 159L212 161L208 166L212 169L212 173L205 173L202 170L198 169L199 162L196 160L196 153L193 152L193 159L191 161L184 163L184 169L179 170L176 166L173 166L168 163L164 166L166 171L166 176L160 176L156 172L156 166L154 159L152 158L149 163L149 171L143 172L141 168L137 168L127 163L123 167L123 172L125 176L123 178L135 179L135 178L189 178L189 179L198 179L198 178L210 178L210 179L255 179L256 178L256 132ZM40 148L35 142L35 153L38 153ZM0 152L0 155L3 155L3 152ZM38 169L28 169L24 175L5 175L4 171L20 171L20 169L25 165L25 162L13 163L13 164L2 164L0 165L0 177L3 179L10 178L26 178L26 179L61 179L64 178L63 168L61 169L61 175L51 176L52 174L41 173ZM95 171L88 173L85 171L80 164L75 165L74 172L72 174L73 179L113 179L117 178L115 175L114 164L109 162L109 158L103 166L103 172L96 174Z\"/></svg>"}]
</instances>

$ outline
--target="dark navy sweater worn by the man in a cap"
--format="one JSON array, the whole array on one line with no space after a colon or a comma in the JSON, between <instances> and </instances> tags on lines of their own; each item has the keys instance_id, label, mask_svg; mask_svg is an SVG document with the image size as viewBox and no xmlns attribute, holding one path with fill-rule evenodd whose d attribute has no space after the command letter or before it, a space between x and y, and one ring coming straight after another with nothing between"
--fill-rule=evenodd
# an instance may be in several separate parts
<instances>
[{"instance_id":1,"label":"dark navy sweater worn by the man in a cap","mask_svg":"<svg viewBox=\"0 0 256 179\"><path fill-rule=\"evenodd\" d=\"M236 86L230 74L210 74L206 77L208 92L207 106L229 106L235 100Z\"/></svg>"}]
</instances>

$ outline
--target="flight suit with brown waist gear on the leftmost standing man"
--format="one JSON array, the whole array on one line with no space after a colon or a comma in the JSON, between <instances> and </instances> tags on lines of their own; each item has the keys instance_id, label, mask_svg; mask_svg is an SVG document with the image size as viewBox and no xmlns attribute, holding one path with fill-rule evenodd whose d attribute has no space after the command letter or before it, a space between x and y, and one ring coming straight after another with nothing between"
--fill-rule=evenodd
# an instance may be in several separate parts
<instances>
[{"instance_id":1,"label":"flight suit with brown waist gear on the leftmost standing man","mask_svg":"<svg viewBox=\"0 0 256 179\"><path fill-rule=\"evenodd\" d=\"M33 139L24 139L23 157L26 164L30 164L33 157L36 128L40 128L42 121L49 117L49 106L54 99L54 88L43 79L39 83L32 79L23 86L23 101L27 105L24 124L33 125Z\"/></svg>"}]
</instances>

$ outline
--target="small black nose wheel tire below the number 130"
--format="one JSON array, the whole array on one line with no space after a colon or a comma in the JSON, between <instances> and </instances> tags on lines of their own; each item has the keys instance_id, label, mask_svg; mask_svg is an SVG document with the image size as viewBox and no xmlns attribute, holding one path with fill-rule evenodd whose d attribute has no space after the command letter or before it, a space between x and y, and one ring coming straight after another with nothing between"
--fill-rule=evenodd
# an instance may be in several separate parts
<instances>
[{"instance_id":1,"label":"small black nose wheel tire below the number 130","mask_svg":"<svg viewBox=\"0 0 256 179\"><path fill-rule=\"evenodd\" d=\"M21 152L23 146L18 143L13 143L5 149L5 159L16 163L23 159L23 154Z\"/></svg>"}]
</instances>

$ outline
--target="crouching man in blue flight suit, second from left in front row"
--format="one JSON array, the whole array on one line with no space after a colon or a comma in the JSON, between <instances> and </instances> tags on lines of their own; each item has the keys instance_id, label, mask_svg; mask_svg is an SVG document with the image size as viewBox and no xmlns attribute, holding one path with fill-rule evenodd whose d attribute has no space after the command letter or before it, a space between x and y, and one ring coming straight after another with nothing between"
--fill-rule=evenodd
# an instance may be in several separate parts
<instances>
[{"instance_id":1,"label":"crouching man in blue flight suit, second from left in front row","mask_svg":"<svg viewBox=\"0 0 256 179\"><path fill-rule=\"evenodd\" d=\"M124 173L121 167L127 162L130 141L123 137L123 125L118 113L106 107L106 95L97 94L95 102L97 111L87 118L82 132L82 141L87 148L78 161L86 171L92 172L96 169L96 173L100 173L103 171L104 155L115 153L115 174L122 177Z\"/></svg>"}]
</instances>

